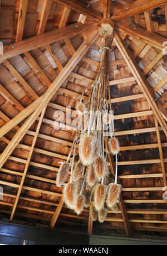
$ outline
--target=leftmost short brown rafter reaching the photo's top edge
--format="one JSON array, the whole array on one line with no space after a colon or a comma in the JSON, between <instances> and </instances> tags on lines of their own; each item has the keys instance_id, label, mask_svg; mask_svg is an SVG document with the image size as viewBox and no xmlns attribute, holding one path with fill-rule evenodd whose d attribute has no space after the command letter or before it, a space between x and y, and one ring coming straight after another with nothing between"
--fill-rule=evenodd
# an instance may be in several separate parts
<instances>
[{"instance_id":1,"label":"leftmost short brown rafter reaching the photo's top edge","mask_svg":"<svg viewBox=\"0 0 167 256\"><path fill-rule=\"evenodd\" d=\"M23 38L24 24L26 21L26 13L27 13L27 5L28 5L28 0L19 1L16 42L21 41Z\"/></svg>"}]
</instances>

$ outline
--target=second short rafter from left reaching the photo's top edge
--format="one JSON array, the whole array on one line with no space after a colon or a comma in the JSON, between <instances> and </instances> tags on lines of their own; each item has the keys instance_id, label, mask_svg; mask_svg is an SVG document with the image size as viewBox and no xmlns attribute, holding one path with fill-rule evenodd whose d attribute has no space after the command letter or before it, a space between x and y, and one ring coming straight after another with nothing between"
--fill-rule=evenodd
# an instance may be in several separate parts
<instances>
[{"instance_id":1,"label":"second short rafter from left reaching the photo's top edge","mask_svg":"<svg viewBox=\"0 0 167 256\"><path fill-rule=\"evenodd\" d=\"M45 32L48 16L50 14L50 9L52 5L51 0L42 0L42 2L43 3L42 3L41 19L40 19L37 35L41 35Z\"/></svg>"}]
</instances>

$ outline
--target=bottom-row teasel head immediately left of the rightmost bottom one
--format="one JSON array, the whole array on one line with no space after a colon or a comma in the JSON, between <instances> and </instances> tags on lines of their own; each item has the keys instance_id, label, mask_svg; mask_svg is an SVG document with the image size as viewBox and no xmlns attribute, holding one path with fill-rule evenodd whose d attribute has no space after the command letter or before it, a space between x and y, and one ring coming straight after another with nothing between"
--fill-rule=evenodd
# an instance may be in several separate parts
<instances>
[{"instance_id":1,"label":"bottom-row teasel head immediately left of the rightmost bottom one","mask_svg":"<svg viewBox=\"0 0 167 256\"><path fill-rule=\"evenodd\" d=\"M97 211L104 207L104 203L107 195L107 186L102 184L96 184L94 189L94 206Z\"/></svg>"}]
</instances>

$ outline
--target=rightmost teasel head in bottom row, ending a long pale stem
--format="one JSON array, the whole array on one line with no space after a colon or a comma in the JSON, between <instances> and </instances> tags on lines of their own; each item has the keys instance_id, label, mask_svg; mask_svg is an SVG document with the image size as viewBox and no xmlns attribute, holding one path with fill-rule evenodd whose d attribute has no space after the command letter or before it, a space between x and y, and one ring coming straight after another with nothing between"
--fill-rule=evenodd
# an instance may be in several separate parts
<instances>
[{"instance_id":1,"label":"rightmost teasel head in bottom row, ending a long pale stem","mask_svg":"<svg viewBox=\"0 0 167 256\"><path fill-rule=\"evenodd\" d=\"M109 209L116 204L116 201L119 199L122 186L120 184L110 183L108 186L108 194L106 204Z\"/></svg>"}]
</instances>

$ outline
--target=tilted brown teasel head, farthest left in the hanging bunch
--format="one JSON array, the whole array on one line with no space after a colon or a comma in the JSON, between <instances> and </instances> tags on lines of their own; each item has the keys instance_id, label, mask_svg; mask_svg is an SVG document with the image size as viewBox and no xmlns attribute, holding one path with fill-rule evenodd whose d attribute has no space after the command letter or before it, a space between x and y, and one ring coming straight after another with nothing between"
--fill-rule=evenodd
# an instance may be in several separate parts
<instances>
[{"instance_id":1,"label":"tilted brown teasel head, farthest left in the hanging bunch","mask_svg":"<svg viewBox=\"0 0 167 256\"><path fill-rule=\"evenodd\" d=\"M56 186L62 187L64 183L66 182L66 179L68 177L68 173L70 171L70 165L69 163L62 163L56 177Z\"/></svg>"}]
</instances>

